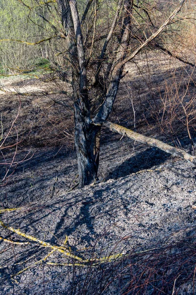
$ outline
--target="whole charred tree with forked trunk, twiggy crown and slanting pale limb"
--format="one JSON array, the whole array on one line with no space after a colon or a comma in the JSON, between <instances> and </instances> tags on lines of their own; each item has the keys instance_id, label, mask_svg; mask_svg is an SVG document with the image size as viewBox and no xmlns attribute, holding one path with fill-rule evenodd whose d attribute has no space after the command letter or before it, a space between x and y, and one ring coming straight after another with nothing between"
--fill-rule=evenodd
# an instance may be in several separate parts
<instances>
[{"instance_id":1,"label":"whole charred tree with forked trunk, twiggy crown and slanting pale limb","mask_svg":"<svg viewBox=\"0 0 196 295\"><path fill-rule=\"evenodd\" d=\"M17 1L29 11L32 10L25 1ZM41 5L39 1L36 2L38 6ZM88 0L82 14L81 3L76 0L43 2L48 7L48 13L51 13L51 2L55 7L53 15L61 18L61 26L59 21L49 21L47 14L40 10L37 14L51 26L54 37L63 40L64 48L60 54L63 56L64 64L58 73L63 81L69 82L72 86L79 186L88 185L98 179L102 125L196 164L196 158L181 149L173 148L107 121L117 96L119 83L126 74L123 72L124 65L133 60L147 46L154 46L194 66L173 54L164 46L164 38L160 38L165 28L175 22L175 17L186 0L180 3L174 1L175 9L172 12L169 4L162 7L161 3L156 3L160 6L158 7L159 17L157 15L154 17L155 1L147 2L146 6L145 3L140 1L135 3L134 0L105 1L103 2L105 7L109 3L113 11L112 20L109 16L109 21L105 23L105 12L100 11L99 0ZM104 5L101 7L104 8ZM107 9L107 13L108 11ZM178 21L181 19L181 17L178 18ZM170 31L172 32L171 28ZM52 38L49 37L46 40L50 39Z\"/></svg>"}]
</instances>

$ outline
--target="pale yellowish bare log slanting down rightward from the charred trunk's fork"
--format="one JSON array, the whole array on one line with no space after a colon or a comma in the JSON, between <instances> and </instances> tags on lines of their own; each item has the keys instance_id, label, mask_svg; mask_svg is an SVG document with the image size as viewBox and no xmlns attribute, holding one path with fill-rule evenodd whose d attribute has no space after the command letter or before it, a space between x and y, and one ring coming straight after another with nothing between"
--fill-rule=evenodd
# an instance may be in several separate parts
<instances>
[{"instance_id":1,"label":"pale yellowish bare log slanting down rightward from the charred trunk's fork","mask_svg":"<svg viewBox=\"0 0 196 295\"><path fill-rule=\"evenodd\" d=\"M134 132L128 128L125 128L125 127L118 125L118 124L114 124L109 121L102 122L102 125L109 128L113 132L117 132L119 134L126 135L127 137L129 137L135 141L138 141L140 143L159 148L167 153L172 154L173 156L180 157L180 158L196 165L196 157L190 155L189 153L187 153L183 149L174 148L168 144L163 143L162 141L160 141L158 139L147 137L145 135Z\"/></svg>"}]
</instances>

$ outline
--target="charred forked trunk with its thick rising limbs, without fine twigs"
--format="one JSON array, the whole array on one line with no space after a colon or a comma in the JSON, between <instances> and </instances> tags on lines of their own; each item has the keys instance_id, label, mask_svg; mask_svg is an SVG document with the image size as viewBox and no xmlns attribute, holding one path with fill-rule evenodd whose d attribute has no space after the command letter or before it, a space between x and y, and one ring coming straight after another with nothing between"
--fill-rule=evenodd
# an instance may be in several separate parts
<instances>
[{"instance_id":1,"label":"charred forked trunk with its thick rising limbs, without fine twigs","mask_svg":"<svg viewBox=\"0 0 196 295\"><path fill-rule=\"evenodd\" d=\"M143 39L134 51L131 50L134 35L133 11L135 8L139 8L139 5L134 4L133 0L119 0L111 27L104 36L105 41L95 62L94 75L92 75L92 67L89 66L89 61L92 50L95 48L96 24L94 24L92 44L90 52L88 50L88 57L86 57L87 50L83 41L82 26L88 10L94 2L95 6L98 6L98 1L89 0L84 15L80 20L76 0L58 0L65 36L68 39L67 56L72 65L75 147L80 186L90 184L98 178L101 125L104 124L113 131L126 132L128 134L120 126L118 128L117 125L115 126L106 121L116 99L125 63L135 58L142 49L160 35L166 26L172 22L186 0L181 1L169 18L158 29L155 29L153 26L154 33L151 33L146 40ZM147 9L143 9L143 13L146 14L148 21L152 24ZM96 20L94 22L96 23ZM120 31L117 29L117 24L120 24ZM110 43L112 43L113 48L111 48ZM89 74L90 79L88 78L88 70L91 71ZM98 99L93 99L91 96L96 95L95 89L99 89L100 92ZM95 104L98 104L97 113L94 111ZM94 113L93 116L92 113ZM140 136L138 140L141 140ZM163 146L162 149L164 149Z\"/></svg>"}]
</instances>

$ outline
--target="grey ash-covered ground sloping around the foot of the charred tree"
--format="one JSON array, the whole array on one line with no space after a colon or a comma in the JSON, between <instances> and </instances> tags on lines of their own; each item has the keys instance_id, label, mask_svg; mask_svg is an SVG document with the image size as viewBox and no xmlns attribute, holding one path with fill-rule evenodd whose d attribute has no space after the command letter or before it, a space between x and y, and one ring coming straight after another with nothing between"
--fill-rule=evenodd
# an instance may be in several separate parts
<instances>
[{"instance_id":1,"label":"grey ash-covered ground sloping around the foot of the charred tree","mask_svg":"<svg viewBox=\"0 0 196 295\"><path fill-rule=\"evenodd\" d=\"M114 156L114 149L120 144L123 148ZM69 191L70 178L74 178L77 171L74 155L65 157L63 152L55 155L54 151L53 154L46 150L40 151L37 158L31 159L23 168L18 168L7 185L1 187L2 208L22 206L20 210L2 214L3 222L58 247L63 246L68 236L66 246L71 247L72 253L83 260L92 257L95 259L95 256L107 257L114 253L133 255L150 248L164 249L164 261L171 253L175 256L176 253L179 255L182 252L184 257L187 249L180 249L179 245L172 249L172 246L182 240L186 241L190 248L195 244L196 212L192 206L196 203L196 175L190 164L172 160L167 155L164 157L162 152L141 145L136 145L133 151L132 144L127 139L124 139L123 143L116 141L106 144L102 148L101 156L104 159L101 170L111 171L111 174L104 175L106 180L94 186L66 192ZM153 166L156 160L159 164ZM124 174L126 176L122 177ZM111 176L117 179L111 179ZM13 241L28 241L27 238L3 228L0 232L0 236ZM166 251L165 247L169 249ZM109 272L111 275L102 273L102 279L99 277L102 269L99 263L94 267L88 264L74 267L47 265L48 262L73 264L71 258L58 251L54 251L42 264L36 265L35 263L44 259L50 250L32 240L29 240L28 245L0 241L0 294L126 294L129 281L131 282L138 271L136 267L134 273L134 270L130 271L126 266L126 276L123 275L121 283L118 284L117 277L122 271L118 259L115 259L118 270ZM161 254L152 251L150 255L147 264L154 255L160 257ZM184 258L186 261L188 257ZM137 260L137 257L134 259ZM162 294L155 292L154 285L158 289L161 288L163 293L166 291L164 288L168 286L165 293L172 294L172 284L178 274L181 274L181 277L176 282L176 294L192 294L196 254L192 251L193 265L187 269L186 278L179 266L177 269L174 267L175 259L173 258L173 266L167 266L167 270L166 266L156 266L165 272L162 285L160 281L163 279L163 273L160 275L161 279L157 277L157 280L153 279L150 284L146 283L146 293L142 289L139 294ZM130 264L130 259L125 259L124 256L124 265L127 265L127 260ZM177 261L179 262L179 257ZM114 262L108 263L106 259L104 266L106 269L114 268L113 264ZM140 264L141 262L138 267ZM28 266L31 267L19 273ZM137 264L134 262L133 266ZM156 267L154 266L154 272L160 271ZM93 270L95 268L97 274ZM90 277L87 279L88 272ZM16 275L17 273L19 274ZM172 282L166 283L168 277ZM89 288L86 293L81 291L81 288L86 288L85 280L86 287ZM187 281L192 282L191 287L187 287ZM128 294L138 292L138 288L130 290L132 291Z\"/></svg>"}]
</instances>

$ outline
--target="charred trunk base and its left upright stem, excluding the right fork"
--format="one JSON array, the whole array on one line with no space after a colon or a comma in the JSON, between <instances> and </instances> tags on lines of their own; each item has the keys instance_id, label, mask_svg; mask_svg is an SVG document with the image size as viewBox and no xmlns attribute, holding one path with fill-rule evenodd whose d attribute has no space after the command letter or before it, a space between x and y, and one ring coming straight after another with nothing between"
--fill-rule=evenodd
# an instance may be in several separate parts
<instances>
[{"instance_id":1,"label":"charred trunk base and its left upright stem, excluding the right fork","mask_svg":"<svg viewBox=\"0 0 196 295\"><path fill-rule=\"evenodd\" d=\"M68 59L72 65L75 148L81 187L98 179L98 160L94 151L100 126L92 124L90 119L85 50L76 1L59 0L59 8L65 35L69 40Z\"/></svg>"}]
</instances>

